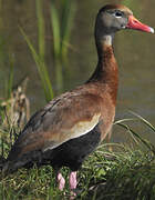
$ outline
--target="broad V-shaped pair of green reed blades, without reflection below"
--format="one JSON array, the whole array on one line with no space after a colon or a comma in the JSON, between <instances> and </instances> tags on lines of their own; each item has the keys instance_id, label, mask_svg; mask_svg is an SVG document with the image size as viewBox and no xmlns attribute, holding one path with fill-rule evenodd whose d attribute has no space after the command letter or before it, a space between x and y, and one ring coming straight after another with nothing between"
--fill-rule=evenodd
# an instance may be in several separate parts
<instances>
[{"instance_id":1,"label":"broad V-shaped pair of green reed blades, without reflection below","mask_svg":"<svg viewBox=\"0 0 155 200\"><path fill-rule=\"evenodd\" d=\"M56 8L55 2L55 0L51 0L50 8L54 58L64 62L69 51L71 29L74 19L75 0L61 0L61 11Z\"/></svg>"}]
</instances>

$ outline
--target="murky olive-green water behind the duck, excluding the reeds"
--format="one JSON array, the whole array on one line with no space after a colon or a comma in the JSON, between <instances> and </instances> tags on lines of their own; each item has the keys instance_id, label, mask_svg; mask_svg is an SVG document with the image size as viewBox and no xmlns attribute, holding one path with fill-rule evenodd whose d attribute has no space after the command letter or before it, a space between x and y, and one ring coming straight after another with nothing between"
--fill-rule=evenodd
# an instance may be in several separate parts
<instances>
[{"instance_id":1,"label":"murky olive-green water behind the duck, excluding the reeds","mask_svg":"<svg viewBox=\"0 0 155 200\"><path fill-rule=\"evenodd\" d=\"M97 10L106 2L90 0L78 2L74 28L72 30L69 53L70 79L65 80L65 89L69 90L84 82L96 66L96 49L94 44L94 20ZM142 22L155 28L154 9L155 1L141 0L125 1ZM14 83L28 76L29 87L27 94L31 101L31 111L41 108L45 101L35 63L21 36L20 24L31 41L37 46L37 18L34 1L6 0L0 12L0 98L3 96L4 81L9 73L9 54L14 62ZM49 21L49 2L44 3L46 22L46 62L53 80L53 62L51 53L51 30ZM115 57L120 67L120 90L116 108L116 120L132 117L132 110L151 123L155 122L155 34L138 31L122 31L115 37ZM56 88L56 86L54 86ZM152 131L138 122L132 122L132 127L155 142ZM114 127L114 141L126 141L124 130ZM127 136L127 134L125 134Z\"/></svg>"}]
</instances>

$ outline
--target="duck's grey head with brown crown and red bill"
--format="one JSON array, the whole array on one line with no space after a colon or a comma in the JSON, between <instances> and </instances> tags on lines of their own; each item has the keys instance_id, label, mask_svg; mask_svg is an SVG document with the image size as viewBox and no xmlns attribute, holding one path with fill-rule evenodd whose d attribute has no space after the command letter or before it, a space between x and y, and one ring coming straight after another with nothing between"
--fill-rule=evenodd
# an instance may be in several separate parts
<instances>
[{"instance_id":1,"label":"duck's grey head with brown crown and red bill","mask_svg":"<svg viewBox=\"0 0 155 200\"><path fill-rule=\"evenodd\" d=\"M102 39L104 36L113 36L122 29L154 32L153 28L141 23L133 16L133 12L124 6L107 4L99 11L95 23L96 39Z\"/></svg>"}]
</instances>

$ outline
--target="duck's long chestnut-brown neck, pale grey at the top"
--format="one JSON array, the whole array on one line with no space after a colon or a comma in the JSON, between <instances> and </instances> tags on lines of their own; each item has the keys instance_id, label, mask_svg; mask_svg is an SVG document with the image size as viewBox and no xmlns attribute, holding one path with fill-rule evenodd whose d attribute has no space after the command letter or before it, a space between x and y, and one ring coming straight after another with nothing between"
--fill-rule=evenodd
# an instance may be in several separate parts
<instances>
[{"instance_id":1,"label":"duck's long chestnut-brown neck, pale grey at the top","mask_svg":"<svg viewBox=\"0 0 155 200\"><path fill-rule=\"evenodd\" d=\"M96 40L99 54L97 67L87 82L99 82L101 87L107 84L111 89L111 96L115 103L118 83L117 63L114 57L112 38L105 37L103 40Z\"/></svg>"}]
</instances>

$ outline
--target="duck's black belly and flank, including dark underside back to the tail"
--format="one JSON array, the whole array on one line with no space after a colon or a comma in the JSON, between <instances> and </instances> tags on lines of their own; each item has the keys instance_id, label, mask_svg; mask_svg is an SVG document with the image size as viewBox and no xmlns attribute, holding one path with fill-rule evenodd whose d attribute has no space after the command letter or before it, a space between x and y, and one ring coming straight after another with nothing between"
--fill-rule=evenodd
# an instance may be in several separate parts
<instances>
[{"instance_id":1,"label":"duck's black belly and flank, including dark underside back to the tail","mask_svg":"<svg viewBox=\"0 0 155 200\"><path fill-rule=\"evenodd\" d=\"M89 133L71 139L53 150L31 151L18 159L9 157L7 168L9 172L13 172L21 167L31 168L35 163L38 167L51 164L54 169L69 167L72 171L76 171L100 141L101 133L99 126L96 126Z\"/></svg>"}]
</instances>

